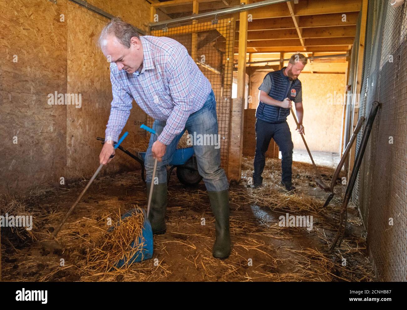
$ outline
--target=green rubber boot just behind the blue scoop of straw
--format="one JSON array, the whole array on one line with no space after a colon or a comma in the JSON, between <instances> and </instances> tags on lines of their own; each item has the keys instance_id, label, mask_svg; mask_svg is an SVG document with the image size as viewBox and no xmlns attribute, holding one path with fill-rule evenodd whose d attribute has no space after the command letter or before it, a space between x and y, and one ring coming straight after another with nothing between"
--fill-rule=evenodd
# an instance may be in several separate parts
<instances>
[{"instance_id":1,"label":"green rubber boot just behind the blue scoop of straw","mask_svg":"<svg viewBox=\"0 0 407 310\"><path fill-rule=\"evenodd\" d=\"M147 203L149 201L151 183L147 183ZM151 198L149 221L154 235L166 232L165 212L167 210L167 183L154 184L153 197Z\"/></svg>"}]
</instances>

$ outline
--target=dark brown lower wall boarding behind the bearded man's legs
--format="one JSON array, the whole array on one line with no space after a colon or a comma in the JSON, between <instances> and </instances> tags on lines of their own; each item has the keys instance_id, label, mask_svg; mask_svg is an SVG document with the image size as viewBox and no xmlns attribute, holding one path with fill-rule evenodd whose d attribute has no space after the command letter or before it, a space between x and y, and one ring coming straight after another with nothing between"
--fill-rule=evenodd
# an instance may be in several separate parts
<instances>
[{"instance_id":1,"label":"dark brown lower wall boarding behind the bearded man's legs","mask_svg":"<svg viewBox=\"0 0 407 310\"><path fill-rule=\"evenodd\" d=\"M243 156L254 156L256 151L256 109L245 109L245 122L243 130ZM278 146L271 139L269 148L266 152L266 157L278 158Z\"/></svg>"}]
</instances>

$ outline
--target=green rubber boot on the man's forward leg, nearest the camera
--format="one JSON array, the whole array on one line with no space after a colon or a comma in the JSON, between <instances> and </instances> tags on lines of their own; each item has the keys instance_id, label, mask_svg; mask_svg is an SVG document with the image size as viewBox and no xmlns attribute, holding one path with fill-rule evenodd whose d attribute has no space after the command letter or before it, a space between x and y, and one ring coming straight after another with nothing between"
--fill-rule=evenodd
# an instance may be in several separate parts
<instances>
[{"instance_id":1,"label":"green rubber boot on the man's forward leg, nearest the camera","mask_svg":"<svg viewBox=\"0 0 407 310\"><path fill-rule=\"evenodd\" d=\"M210 207L215 216L216 239L212 255L221 260L230 255L229 190L208 192Z\"/></svg>"}]
</instances>

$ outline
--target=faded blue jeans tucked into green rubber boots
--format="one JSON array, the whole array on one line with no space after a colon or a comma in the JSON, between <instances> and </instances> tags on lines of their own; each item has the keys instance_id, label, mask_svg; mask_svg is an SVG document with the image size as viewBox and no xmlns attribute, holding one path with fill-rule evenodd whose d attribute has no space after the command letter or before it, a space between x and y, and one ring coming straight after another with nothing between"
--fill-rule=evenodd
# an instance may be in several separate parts
<instances>
[{"instance_id":1,"label":"faded blue jeans tucked into green rubber boots","mask_svg":"<svg viewBox=\"0 0 407 310\"><path fill-rule=\"evenodd\" d=\"M153 123L153 129L159 136L166 125L166 121L155 120ZM199 145L208 143L199 143L195 145L194 141L198 141L198 138L191 138L193 142L193 148L195 157L197 158L198 171L205 182L206 190L208 192L220 192L229 188L228 178L225 171L221 166L221 152L220 152L220 139L218 140L218 118L216 114L216 100L213 91L209 94L204 106L195 113L191 114L186 121L184 130L179 133L171 144L167 145L166 152L162 157L162 162L158 162L157 171L155 177L158 177L158 183L167 182L167 170L166 166L171 162L175 149L177 148L179 139L184 134L185 130L188 130L189 135L212 135L214 138L212 141L217 142L217 145ZM199 136L197 136L199 137ZM208 136L209 137L209 136ZM149 147L144 161L146 168L146 181L151 183L151 177L153 175L154 158L152 156L151 147L157 140L155 135L151 135ZM201 140L202 141L202 140ZM214 144L214 143L209 143Z\"/></svg>"}]
</instances>

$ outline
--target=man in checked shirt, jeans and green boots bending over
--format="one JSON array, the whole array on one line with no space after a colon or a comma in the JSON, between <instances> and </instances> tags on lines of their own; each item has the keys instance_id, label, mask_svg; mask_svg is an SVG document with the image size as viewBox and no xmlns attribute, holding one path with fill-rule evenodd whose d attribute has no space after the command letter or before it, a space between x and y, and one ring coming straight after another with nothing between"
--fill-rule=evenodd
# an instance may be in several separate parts
<instances>
[{"instance_id":1,"label":"man in checked shirt, jeans and green boots bending over","mask_svg":"<svg viewBox=\"0 0 407 310\"><path fill-rule=\"evenodd\" d=\"M154 159L158 159L149 220L154 234L166 232L167 170L179 139L188 130L191 135L217 137L216 101L208 79L198 69L179 42L167 37L139 36L136 29L119 18L103 28L99 38L103 54L111 62L110 80L113 101L105 132L105 144L99 155L107 164L114 155L113 144L130 115L133 99L155 119L145 168L149 196ZM194 145L199 174L208 191L215 216L216 238L212 254L224 259L230 255L229 184L220 167L219 147Z\"/></svg>"}]
</instances>

